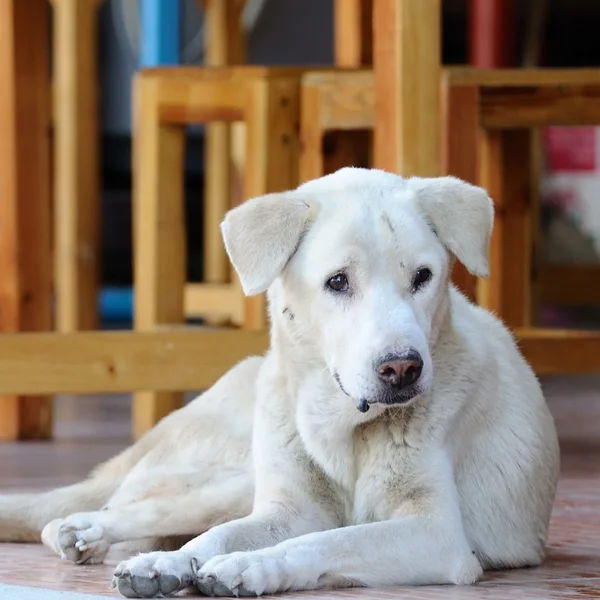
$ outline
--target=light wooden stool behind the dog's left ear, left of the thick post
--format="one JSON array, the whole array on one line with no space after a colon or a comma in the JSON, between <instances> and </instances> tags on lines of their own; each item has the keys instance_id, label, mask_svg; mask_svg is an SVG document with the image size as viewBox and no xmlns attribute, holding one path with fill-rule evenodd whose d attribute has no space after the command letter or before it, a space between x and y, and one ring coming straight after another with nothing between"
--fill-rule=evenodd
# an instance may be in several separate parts
<instances>
[{"instance_id":1,"label":"light wooden stool behind the dog's left ear, left of the thick post","mask_svg":"<svg viewBox=\"0 0 600 600\"><path fill-rule=\"evenodd\" d=\"M150 69L135 82L135 329L182 325L185 314L224 312L246 329L266 326L264 297L244 298L228 283L185 282L183 149L191 123L246 125L244 196L298 184L302 69L237 67ZM198 364L202 368L202 364ZM141 393L133 406L139 436L181 405L179 393Z\"/></svg>"}]
</instances>

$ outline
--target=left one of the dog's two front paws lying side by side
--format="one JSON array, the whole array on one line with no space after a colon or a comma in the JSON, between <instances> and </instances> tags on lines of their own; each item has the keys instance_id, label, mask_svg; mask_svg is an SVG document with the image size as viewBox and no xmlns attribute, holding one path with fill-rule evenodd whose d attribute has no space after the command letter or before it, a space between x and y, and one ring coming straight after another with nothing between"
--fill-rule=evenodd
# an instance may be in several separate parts
<instances>
[{"instance_id":1,"label":"left one of the dog's two front paws lying side by side","mask_svg":"<svg viewBox=\"0 0 600 600\"><path fill-rule=\"evenodd\" d=\"M112 587L127 598L170 596L192 584L191 555L185 552L150 552L120 563Z\"/></svg>"}]
</instances>

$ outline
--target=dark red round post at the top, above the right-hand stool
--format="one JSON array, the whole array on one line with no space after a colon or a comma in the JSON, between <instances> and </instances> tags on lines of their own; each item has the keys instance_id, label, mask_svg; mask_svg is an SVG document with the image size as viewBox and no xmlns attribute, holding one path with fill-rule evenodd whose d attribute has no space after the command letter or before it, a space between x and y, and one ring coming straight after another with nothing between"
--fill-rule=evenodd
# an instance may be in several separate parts
<instances>
[{"instance_id":1,"label":"dark red round post at the top, above the right-hand stool","mask_svg":"<svg viewBox=\"0 0 600 600\"><path fill-rule=\"evenodd\" d=\"M514 0L470 0L469 64L480 69L513 65Z\"/></svg>"}]
</instances>

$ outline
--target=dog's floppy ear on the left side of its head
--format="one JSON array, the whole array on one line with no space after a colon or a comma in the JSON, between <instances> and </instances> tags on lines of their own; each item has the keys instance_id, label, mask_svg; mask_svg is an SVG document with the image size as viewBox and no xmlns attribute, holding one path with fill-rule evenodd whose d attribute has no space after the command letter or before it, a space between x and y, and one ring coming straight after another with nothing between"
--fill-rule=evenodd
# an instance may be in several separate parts
<instances>
[{"instance_id":1,"label":"dog's floppy ear on the left side of its head","mask_svg":"<svg viewBox=\"0 0 600 600\"><path fill-rule=\"evenodd\" d=\"M275 281L296 251L310 214L306 199L283 192L253 198L225 215L225 248L247 296Z\"/></svg>"}]
</instances>

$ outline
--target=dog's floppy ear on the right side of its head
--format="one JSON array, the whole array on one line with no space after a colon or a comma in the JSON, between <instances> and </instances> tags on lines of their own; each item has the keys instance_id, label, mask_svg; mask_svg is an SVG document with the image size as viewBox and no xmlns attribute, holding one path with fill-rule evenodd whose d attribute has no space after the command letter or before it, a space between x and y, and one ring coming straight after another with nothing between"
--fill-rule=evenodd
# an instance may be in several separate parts
<instances>
[{"instance_id":1,"label":"dog's floppy ear on the right side of its head","mask_svg":"<svg viewBox=\"0 0 600 600\"><path fill-rule=\"evenodd\" d=\"M411 177L417 204L441 242L470 273L489 275L494 204L487 192L456 177Z\"/></svg>"}]
</instances>

